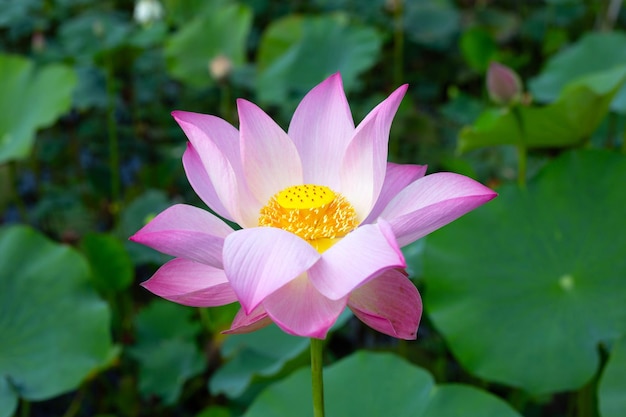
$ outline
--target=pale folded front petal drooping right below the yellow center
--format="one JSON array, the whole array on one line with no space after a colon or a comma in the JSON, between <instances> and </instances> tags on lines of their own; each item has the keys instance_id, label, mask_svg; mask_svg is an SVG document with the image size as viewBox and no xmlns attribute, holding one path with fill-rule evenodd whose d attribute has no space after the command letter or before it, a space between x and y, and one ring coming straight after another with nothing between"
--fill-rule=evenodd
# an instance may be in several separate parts
<instances>
[{"instance_id":1,"label":"pale folded front petal drooping right below the yellow center","mask_svg":"<svg viewBox=\"0 0 626 417\"><path fill-rule=\"evenodd\" d=\"M382 220L359 227L324 252L309 278L324 296L338 300L386 269L405 266L393 232Z\"/></svg>"}]
</instances>

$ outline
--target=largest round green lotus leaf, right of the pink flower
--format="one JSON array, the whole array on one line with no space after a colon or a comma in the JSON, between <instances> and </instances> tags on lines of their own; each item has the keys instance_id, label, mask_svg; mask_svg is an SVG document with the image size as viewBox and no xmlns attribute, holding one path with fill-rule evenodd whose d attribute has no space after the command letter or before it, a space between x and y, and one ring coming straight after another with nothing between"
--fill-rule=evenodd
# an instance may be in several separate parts
<instances>
[{"instance_id":1,"label":"largest round green lotus leaf, right of the pink flower","mask_svg":"<svg viewBox=\"0 0 626 417\"><path fill-rule=\"evenodd\" d=\"M626 330L626 157L569 152L430 235L426 311L473 374L577 389Z\"/></svg>"}]
</instances>

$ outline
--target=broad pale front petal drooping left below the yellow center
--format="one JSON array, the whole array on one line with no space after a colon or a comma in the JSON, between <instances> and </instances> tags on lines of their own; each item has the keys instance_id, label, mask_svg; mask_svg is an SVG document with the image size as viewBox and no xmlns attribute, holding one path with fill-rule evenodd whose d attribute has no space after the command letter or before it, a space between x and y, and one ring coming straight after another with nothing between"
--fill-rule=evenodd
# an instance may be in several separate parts
<instances>
[{"instance_id":1,"label":"broad pale front petal drooping left below the yellow center","mask_svg":"<svg viewBox=\"0 0 626 417\"><path fill-rule=\"evenodd\" d=\"M319 258L306 241L273 227L238 230L224 242L224 270L246 313Z\"/></svg>"}]
</instances>

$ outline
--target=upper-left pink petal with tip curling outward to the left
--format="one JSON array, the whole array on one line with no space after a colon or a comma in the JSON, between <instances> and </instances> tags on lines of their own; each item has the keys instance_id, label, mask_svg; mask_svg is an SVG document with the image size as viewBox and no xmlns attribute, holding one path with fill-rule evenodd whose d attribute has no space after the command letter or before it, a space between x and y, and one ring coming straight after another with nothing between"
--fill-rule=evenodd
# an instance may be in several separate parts
<instances>
[{"instance_id":1,"label":"upper-left pink petal with tip curling outward to the left","mask_svg":"<svg viewBox=\"0 0 626 417\"><path fill-rule=\"evenodd\" d=\"M175 111L172 116L200 158L208 175L204 180L211 182L216 196L228 211L228 215L220 215L242 226L255 226L258 219L254 216L251 218L251 213L258 213L266 202L256 201L242 180L244 175L237 129L219 117L207 114ZM202 171L186 169L188 174L194 176L190 181L197 186L202 181ZM205 197L200 192L198 195ZM211 207L211 201L205 203Z\"/></svg>"}]
</instances>

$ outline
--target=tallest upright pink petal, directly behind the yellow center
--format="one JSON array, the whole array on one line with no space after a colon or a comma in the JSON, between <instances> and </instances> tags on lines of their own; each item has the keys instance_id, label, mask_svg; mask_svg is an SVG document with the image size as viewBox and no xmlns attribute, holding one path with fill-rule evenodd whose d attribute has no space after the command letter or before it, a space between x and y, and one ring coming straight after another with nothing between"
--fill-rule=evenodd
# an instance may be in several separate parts
<instances>
[{"instance_id":1,"label":"tallest upright pink petal, directly behind the yellow center","mask_svg":"<svg viewBox=\"0 0 626 417\"><path fill-rule=\"evenodd\" d=\"M313 88L300 102L289 125L305 184L339 187L339 168L354 122L339 73Z\"/></svg>"}]
</instances>

